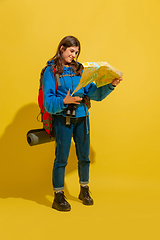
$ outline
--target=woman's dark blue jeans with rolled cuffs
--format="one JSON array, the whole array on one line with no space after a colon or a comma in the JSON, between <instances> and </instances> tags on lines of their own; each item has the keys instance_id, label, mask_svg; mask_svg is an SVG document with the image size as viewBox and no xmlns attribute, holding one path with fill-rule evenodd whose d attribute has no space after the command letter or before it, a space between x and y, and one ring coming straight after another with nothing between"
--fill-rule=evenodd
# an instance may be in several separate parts
<instances>
[{"instance_id":1,"label":"woman's dark blue jeans with rolled cuffs","mask_svg":"<svg viewBox=\"0 0 160 240\"><path fill-rule=\"evenodd\" d=\"M87 123L86 117L74 119L71 118L70 125L66 125L65 117L54 117L56 150L53 166L53 188L54 190L64 189L65 167L68 162L72 136L75 142L76 154L78 158L79 181L82 184L87 184L89 181L90 165L90 133L87 134L87 125L89 130L89 117L87 117Z\"/></svg>"}]
</instances>

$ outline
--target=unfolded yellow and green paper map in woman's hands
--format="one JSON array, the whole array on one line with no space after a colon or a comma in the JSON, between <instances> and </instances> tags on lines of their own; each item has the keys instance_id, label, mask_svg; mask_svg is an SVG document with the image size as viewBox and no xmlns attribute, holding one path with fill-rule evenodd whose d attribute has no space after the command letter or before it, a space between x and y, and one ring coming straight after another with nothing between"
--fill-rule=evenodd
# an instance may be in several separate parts
<instances>
[{"instance_id":1,"label":"unfolded yellow and green paper map in woman's hands","mask_svg":"<svg viewBox=\"0 0 160 240\"><path fill-rule=\"evenodd\" d=\"M82 65L84 67L82 77L72 95L91 82L95 82L98 88L111 83L113 79L120 78L123 75L120 70L112 67L107 62L85 62Z\"/></svg>"}]
</instances>

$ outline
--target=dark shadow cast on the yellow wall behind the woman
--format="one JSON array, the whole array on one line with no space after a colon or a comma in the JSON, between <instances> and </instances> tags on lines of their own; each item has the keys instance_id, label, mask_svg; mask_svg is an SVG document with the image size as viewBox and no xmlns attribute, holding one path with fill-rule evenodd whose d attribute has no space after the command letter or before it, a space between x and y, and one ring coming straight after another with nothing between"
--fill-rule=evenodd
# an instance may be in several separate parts
<instances>
[{"instance_id":1,"label":"dark shadow cast on the yellow wall behind the woman","mask_svg":"<svg viewBox=\"0 0 160 240\"><path fill-rule=\"evenodd\" d=\"M0 197L24 198L39 204L51 206L46 195L53 195L52 167L55 143L29 146L26 133L30 129L41 128L36 116L39 108L29 104L16 114L11 125L0 139ZM94 162L94 151L90 149L90 160ZM66 175L77 170L77 158L74 143L71 145ZM78 181L78 180L77 180ZM68 199L78 201L71 196L65 184Z\"/></svg>"}]
</instances>

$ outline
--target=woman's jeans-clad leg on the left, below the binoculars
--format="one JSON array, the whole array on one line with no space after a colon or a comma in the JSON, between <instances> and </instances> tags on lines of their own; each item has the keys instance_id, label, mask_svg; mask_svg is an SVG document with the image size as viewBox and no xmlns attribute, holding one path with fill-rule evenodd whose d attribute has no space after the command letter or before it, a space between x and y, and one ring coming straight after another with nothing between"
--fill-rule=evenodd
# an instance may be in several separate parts
<instances>
[{"instance_id":1,"label":"woman's jeans-clad leg on the left, below the binoculars","mask_svg":"<svg viewBox=\"0 0 160 240\"><path fill-rule=\"evenodd\" d=\"M66 118L56 116L54 119L56 151L53 166L53 188L55 191L64 189L65 167L70 151L73 126L66 126Z\"/></svg>"}]
</instances>

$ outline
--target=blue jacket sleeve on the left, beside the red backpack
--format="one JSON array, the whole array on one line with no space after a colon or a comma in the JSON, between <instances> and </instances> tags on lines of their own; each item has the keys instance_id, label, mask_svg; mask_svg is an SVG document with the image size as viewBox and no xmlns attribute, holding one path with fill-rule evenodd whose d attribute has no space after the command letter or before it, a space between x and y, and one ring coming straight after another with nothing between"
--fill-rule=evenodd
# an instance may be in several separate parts
<instances>
[{"instance_id":1,"label":"blue jacket sleeve on the left, beside the red backpack","mask_svg":"<svg viewBox=\"0 0 160 240\"><path fill-rule=\"evenodd\" d=\"M63 104L63 97L56 96L56 83L54 74L48 67L43 75L43 103L47 112L56 114L66 109L67 105Z\"/></svg>"}]
</instances>

